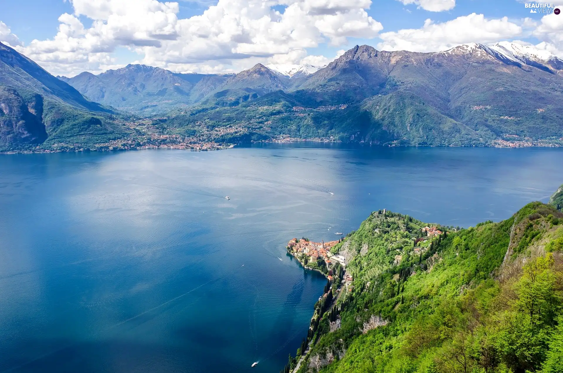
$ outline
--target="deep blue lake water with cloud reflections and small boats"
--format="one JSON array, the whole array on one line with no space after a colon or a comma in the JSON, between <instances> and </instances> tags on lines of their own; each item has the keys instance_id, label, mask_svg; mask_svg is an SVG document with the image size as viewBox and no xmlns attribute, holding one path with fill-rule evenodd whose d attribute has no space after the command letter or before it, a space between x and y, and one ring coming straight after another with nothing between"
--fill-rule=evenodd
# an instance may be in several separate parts
<instances>
[{"instance_id":1,"label":"deep blue lake water with cloud reflections and small boats","mask_svg":"<svg viewBox=\"0 0 563 373\"><path fill-rule=\"evenodd\" d=\"M289 239L498 221L561 183L558 149L1 155L0 372L277 372L325 285Z\"/></svg>"}]
</instances>

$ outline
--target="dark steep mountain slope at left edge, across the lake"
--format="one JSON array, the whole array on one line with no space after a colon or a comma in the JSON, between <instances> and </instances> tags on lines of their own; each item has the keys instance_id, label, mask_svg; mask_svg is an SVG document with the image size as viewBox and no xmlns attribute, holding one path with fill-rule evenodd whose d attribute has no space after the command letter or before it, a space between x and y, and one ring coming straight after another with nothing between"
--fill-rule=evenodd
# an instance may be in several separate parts
<instances>
[{"instance_id":1,"label":"dark steep mountain slope at left edge, across the lake","mask_svg":"<svg viewBox=\"0 0 563 373\"><path fill-rule=\"evenodd\" d=\"M0 150L122 136L113 109L92 102L0 43Z\"/></svg>"}]
</instances>

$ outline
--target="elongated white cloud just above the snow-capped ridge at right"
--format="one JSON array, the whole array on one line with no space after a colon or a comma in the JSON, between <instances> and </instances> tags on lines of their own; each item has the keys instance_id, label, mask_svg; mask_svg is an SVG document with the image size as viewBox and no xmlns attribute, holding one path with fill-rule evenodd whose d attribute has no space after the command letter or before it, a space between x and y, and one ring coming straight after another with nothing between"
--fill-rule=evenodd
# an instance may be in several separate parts
<instances>
[{"instance_id":1,"label":"elongated white cloud just above the snow-capped ridge at right","mask_svg":"<svg viewBox=\"0 0 563 373\"><path fill-rule=\"evenodd\" d=\"M463 43L493 43L511 39L522 34L522 26L508 20L486 19L482 14L472 13L444 23L427 19L419 29L403 29L382 33L383 42L379 50L413 52L441 51Z\"/></svg>"}]
</instances>

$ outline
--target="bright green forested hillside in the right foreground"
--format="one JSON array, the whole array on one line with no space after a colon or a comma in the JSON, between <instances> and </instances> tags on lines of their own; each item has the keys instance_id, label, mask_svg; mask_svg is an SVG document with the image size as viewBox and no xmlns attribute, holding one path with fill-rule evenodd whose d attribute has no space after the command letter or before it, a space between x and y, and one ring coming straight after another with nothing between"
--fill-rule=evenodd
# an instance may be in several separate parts
<instances>
[{"instance_id":1,"label":"bright green forested hillside in the right foreground","mask_svg":"<svg viewBox=\"0 0 563 373\"><path fill-rule=\"evenodd\" d=\"M374 211L330 252L346 266L332 260L282 372L561 372L563 213L553 206L468 229ZM326 266L320 255L314 264Z\"/></svg>"}]
</instances>

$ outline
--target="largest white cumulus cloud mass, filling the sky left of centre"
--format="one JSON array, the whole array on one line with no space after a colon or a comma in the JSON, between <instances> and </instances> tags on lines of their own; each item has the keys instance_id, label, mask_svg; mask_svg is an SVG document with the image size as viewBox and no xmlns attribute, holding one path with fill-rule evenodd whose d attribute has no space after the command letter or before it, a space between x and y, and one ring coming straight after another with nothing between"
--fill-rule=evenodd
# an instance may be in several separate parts
<instances>
[{"instance_id":1,"label":"largest white cumulus cloud mass, filling the sky left of centre","mask_svg":"<svg viewBox=\"0 0 563 373\"><path fill-rule=\"evenodd\" d=\"M229 71L256 61L300 63L306 48L349 37L374 38L383 26L368 16L371 0L219 0L202 15L178 19L178 3L157 0L70 0L55 37L19 51L53 73L99 72L118 47L141 63L177 71ZM283 5L283 12L274 6ZM85 28L79 20L93 20ZM311 58L310 58L311 60Z\"/></svg>"}]
</instances>

